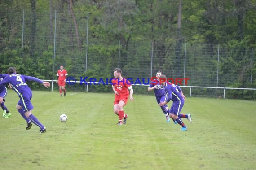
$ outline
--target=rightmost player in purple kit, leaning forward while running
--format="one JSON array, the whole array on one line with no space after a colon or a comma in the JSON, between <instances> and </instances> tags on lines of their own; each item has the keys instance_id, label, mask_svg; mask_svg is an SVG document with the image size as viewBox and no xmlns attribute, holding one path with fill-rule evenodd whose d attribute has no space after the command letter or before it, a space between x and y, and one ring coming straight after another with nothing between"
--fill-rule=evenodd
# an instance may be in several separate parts
<instances>
[{"instance_id":1,"label":"rightmost player in purple kit, leaning forward while running","mask_svg":"<svg viewBox=\"0 0 256 170\"><path fill-rule=\"evenodd\" d=\"M184 98L179 92L177 86L175 84L170 84L167 81L166 75L161 75L159 77L161 84L165 87L165 90L168 94L168 99L165 102L161 102L159 105L166 105L170 100L172 100L173 104L170 109L170 117L176 120L179 125L181 125L181 131L186 131L187 126L185 126L184 122L182 122L181 118L178 117L178 114L181 112L181 109L184 105Z\"/></svg>"}]
</instances>

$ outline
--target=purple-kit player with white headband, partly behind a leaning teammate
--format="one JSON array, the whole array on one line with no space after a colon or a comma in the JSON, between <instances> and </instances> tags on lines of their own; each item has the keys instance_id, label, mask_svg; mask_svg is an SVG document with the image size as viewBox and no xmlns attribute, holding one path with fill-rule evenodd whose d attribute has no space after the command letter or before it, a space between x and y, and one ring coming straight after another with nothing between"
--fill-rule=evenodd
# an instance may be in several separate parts
<instances>
[{"instance_id":1,"label":"purple-kit player with white headband, partly behind a leaning teammate","mask_svg":"<svg viewBox=\"0 0 256 170\"><path fill-rule=\"evenodd\" d=\"M154 82L151 82L150 86L148 87L149 92L154 90L154 95L155 95L155 98L156 98L156 101L157 101L158 104L161 103L161 102L165 102L167 100L167 94L165 92L165 88L159 82L159 77L161 75L162 75L162 70L159 70L156 73L157 80L154 80ZM163 110L163 113L164 113L165 118L166 118L166 122L170 122L170 118L168 116L168 106L163 105L163 106L160 106L160 107Z\"/></svg>"}]
</instances>

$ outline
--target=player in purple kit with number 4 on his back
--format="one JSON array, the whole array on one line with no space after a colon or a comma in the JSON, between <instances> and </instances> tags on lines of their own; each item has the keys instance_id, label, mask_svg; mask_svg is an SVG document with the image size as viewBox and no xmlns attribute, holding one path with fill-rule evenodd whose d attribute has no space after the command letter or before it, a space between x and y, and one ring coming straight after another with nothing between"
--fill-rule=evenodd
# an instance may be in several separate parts
<instances>
[{"instance_id":1,"label":"player in purple kit with number 4 on his back","mask_svg":"<svg viewBox=\"0 0 256 170\"><path fill-rule=\"evenodd\" d=\"M7 72L9 75L0 82L0 86L9 83L12 89L18 94L20 100L16 105L16 109L27 122L26 130L31 128L33 122L36 126L40 127L39 132L44 133L46 131L46 127L31 113L32 109L34 108L30 101L32 98L32 92L26 84L26 81L35 81L43 84L44 87L47 88L50 86L50 83L43 82L35 77L16 74L15 67L10 67Z\"/></svg>"}]
</instances>

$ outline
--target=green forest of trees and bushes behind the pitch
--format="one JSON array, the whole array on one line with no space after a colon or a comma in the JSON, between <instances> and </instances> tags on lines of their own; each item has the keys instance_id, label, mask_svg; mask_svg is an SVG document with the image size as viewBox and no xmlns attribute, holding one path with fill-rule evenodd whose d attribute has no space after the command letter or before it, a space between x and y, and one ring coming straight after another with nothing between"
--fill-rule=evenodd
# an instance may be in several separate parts
<instances>
[{"instance_id":1,"label":"green forest of trees and bushes behind the pitch","mask_svg":"<svg viewBox=\"0 0 256 170\"><path fill-rule=\"evenodd\" d=\"M111 78L116 67L127 78L150 78L161 69L190 78L188 86L256 88L255 48L256 0L0 1L2 73L15 66L54 80L63 64L76 78ZM227 96L255 100L256 92Z\"/></svg>"}]
</instances>

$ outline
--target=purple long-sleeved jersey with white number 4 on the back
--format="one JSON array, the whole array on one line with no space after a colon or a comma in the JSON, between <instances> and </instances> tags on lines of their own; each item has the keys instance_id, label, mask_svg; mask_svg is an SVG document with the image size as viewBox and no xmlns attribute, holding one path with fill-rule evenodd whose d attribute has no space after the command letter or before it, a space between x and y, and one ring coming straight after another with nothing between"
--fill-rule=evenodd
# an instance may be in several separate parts
<instances>
[{"instance_id":1,"label":"purple long-sleeved jersey with white number 4 on the back","mask_svg":"<svg viewBox=\"0 0 256 170\"><path fill-rule=\"evenodd\" d=\"M31 89L28 87L26 84L26 81L35 81L38 83L43 83L42 80L35 78L35 77L30 77L26 75L21 75L21 74L8 74L1 82L0 86L3 84L9 83L13 90L18 94L25 94L27 92L31 92Z\"/></svg>"}]
</instances>

